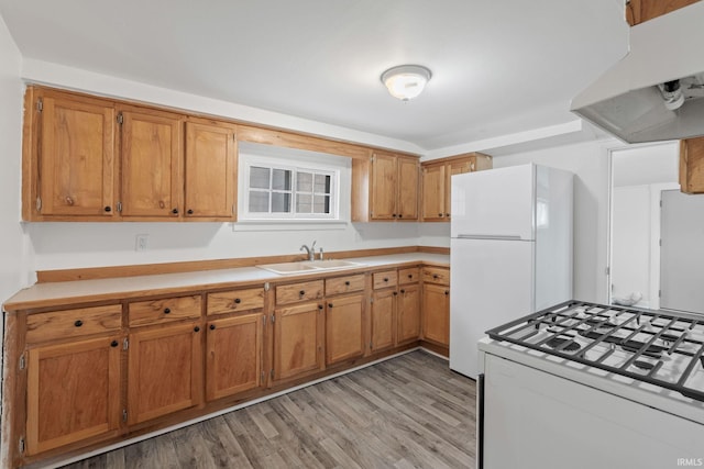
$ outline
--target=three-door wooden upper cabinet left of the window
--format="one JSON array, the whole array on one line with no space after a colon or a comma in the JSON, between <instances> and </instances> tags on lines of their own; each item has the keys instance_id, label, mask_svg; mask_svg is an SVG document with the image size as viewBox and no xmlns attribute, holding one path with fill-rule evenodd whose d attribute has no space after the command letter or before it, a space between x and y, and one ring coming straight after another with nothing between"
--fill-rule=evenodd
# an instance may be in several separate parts
<instances>
[{"instance_id":1,"label":"three-door wooden upper cabinet left of the window","mask_svg":"<svg viewBox=\"0 0 704 469\"><path fill-rule=\"evenodd\" d=\"M234 221L235 125L28 87L25 221Z\"/></svg>"}]
</instances>

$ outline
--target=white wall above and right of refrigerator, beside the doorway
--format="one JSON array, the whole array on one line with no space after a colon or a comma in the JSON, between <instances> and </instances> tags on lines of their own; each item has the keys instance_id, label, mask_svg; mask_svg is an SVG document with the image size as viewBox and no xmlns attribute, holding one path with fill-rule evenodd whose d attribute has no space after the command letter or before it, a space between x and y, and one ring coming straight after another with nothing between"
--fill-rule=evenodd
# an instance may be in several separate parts
<instances>
[{"instance_id":1,"label":"white wall above and right of refrigerator, beside the doorway","mask_svg":"<svg viewBox=\"0 0 704 469\"><path fill-rule=\"evenodd\" d=\"M573 295L606 302L609 165L606 143L588 142L494 158L494 168L536 163L574 172Z\"/></svg>"}]
</instances>

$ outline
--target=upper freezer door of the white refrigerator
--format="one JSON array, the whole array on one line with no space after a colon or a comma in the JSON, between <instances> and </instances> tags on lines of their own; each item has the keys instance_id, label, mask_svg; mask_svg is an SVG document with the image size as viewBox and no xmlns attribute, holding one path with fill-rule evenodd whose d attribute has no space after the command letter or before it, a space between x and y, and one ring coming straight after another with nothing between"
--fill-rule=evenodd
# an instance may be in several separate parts
<instances>
[{"instance_id":1,"label":"upper freezer door of the white refrigerator","mask_svg":"<svg viewBox=\"0 0 704 469\"><path fill-rule=\"evenodd\" d=\"M451 237L535 239L535 165L452 177Z\"/></svg>"}]
</instances>

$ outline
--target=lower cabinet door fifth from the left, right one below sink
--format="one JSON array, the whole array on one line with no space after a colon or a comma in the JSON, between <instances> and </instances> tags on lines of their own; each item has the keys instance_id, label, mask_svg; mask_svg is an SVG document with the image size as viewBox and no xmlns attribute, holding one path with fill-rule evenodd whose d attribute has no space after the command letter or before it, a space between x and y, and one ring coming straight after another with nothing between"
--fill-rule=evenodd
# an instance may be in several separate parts
<instances>
[{"instance_id":1,"label":"lower cabinet door fifth from the left, right one below sink","mask_svg":"<svg viewBox=\"0 0 704 469\"><path fill-rule=\"evenodd\" d=\"M326 310L326 364L364 355L364 297L328 300Z\"/></svg>"}]
</instances>

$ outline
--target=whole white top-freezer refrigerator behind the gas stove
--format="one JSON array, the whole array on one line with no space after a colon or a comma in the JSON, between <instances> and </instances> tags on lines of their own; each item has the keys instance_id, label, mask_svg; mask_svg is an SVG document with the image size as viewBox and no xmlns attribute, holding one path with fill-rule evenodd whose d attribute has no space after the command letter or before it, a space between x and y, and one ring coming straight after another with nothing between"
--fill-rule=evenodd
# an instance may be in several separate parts
<instances>
[{"instance_id":1,"label":"whole white top-freezer refrigerator behind the gas stove","mask_svg":"<svg viewBox=\"0 0 704 469\"><path fill-rule=\"evenodd\" d=\"M487 330L572 298L572 192L534 164L452 177L452 370L476 379Z\"/></svg>"}]
</instances>

